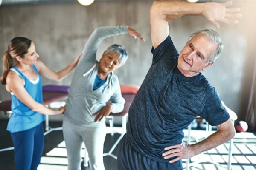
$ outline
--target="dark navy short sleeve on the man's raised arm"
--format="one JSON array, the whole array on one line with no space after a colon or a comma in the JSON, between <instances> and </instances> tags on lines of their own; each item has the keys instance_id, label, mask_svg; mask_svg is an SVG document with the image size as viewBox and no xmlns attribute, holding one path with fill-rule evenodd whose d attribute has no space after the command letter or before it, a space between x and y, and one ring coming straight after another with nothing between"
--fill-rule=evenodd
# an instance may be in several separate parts
<instances>
[{"instance_id":1,"label":"dark navy short sleeve on the man's raised arm","mask_svg":"<svg viewBox=\"0 0 256 170\"><path fill-rule=\"evenodd\" d=\"M152 47L151 53L153 54L152 65L161 59L177 59L179 57L179 53L175 48L170 35L168 35L156 49Z\"/></svg>"}]
</instances>

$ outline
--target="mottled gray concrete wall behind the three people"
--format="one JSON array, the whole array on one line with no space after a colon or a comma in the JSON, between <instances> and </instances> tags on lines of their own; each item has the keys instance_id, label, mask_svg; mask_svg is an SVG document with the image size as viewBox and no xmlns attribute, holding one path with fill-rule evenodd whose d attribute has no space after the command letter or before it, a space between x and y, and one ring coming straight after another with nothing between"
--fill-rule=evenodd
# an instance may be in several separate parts
<instances>
[{"instance_id":1,"label":"mottled gray concrete wall behind the three people","mask_svg":"<svg viewBox=\"0 0 256 170\"><path fill-rule=\"evenodd\" d=\"M102 41L97 53L101 57L104 49L113 43L123 45L129 51L127 63L115 72L121 84L140 85L151 64L152 55L149 9L151 0L95 2L91 6L78 3L44 5L0 6L0 54L7 49L15 36L29 37L36 45L40 59L54 71L68 65L81 52L93 29L99 26L128 25L136 28L146 42L133 40L128 35L119 35ZM254 1L236 2L243 18L238 25L221 25L218 29L225 48L221 57L204 71L204 75L221 96L221 99L239 116L244 115L253 67L255 48L253 38L255 22ZM189 35L198 29L213 28L203 17L185 16L169 22L170 34L180 51ZM250 62L248 62L250 60ZM0 65L2 73L2 65ZM62 82L43 79L44 84L70 85L72 74ZM0 85L0 100L10 99Z\"/></svg>"}]
</instances>

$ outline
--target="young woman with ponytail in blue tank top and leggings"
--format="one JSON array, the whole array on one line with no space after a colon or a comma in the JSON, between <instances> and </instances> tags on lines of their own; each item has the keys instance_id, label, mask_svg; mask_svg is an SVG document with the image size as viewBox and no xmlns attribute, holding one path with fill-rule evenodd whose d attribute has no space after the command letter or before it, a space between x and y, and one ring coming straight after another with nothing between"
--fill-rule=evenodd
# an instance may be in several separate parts
<instances>
[{"instance_id":1,"label":"young woman with ponytail in blue tank top and leggings","mask_svg":"<svg viewBox=\"0 0 256 170\"><path fill-rule=\"evenodd\" d=\"M7 130L14 145L15 169L36 170L44 148L44 114L61 114L43 105L41 76L60 81L76 67L81 55L66 68L55 72L38 60L35 44L25 37L15 37L3 55L0 81L12 96L12 116Z\"/></svg>"}]
</instances>

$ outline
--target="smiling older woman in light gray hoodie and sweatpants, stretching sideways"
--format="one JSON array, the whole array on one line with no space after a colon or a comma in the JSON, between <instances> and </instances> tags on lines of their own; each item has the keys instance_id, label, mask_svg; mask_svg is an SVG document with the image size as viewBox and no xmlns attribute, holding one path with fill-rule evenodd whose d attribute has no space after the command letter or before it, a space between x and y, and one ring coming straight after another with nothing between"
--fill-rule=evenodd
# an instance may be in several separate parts
<instances>
[{"instance_id":1,"label":"smiling older woman in light gray hoodie and sweatpants, stretching sideways","mask_svg":"<svg viewBox=\"0 0 256 170\"><path fill-rule=\"evenodd\" d=\"M88 151L90 170L105 169L105 116L111 112L121 112L125 103L118 77L113 71L125 64L128 54L121 45L114 44L104 51L98 62L96 52L103 39L118 34L129 34L145 41L136 30L128 26L96 28L84 46L73 75L63 121L68 170L81 169L82 142Z\"/></svg>"}]
</instances>

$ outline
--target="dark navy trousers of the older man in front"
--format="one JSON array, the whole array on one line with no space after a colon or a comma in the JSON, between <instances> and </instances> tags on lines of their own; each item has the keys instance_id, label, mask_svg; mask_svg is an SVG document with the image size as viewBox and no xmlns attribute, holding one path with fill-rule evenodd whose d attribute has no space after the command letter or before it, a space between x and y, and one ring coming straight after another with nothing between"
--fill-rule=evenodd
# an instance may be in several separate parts
<instances>
[{"instance_id":1,"label":"dark navy trousers of the older man in front","mask_svg":"<svg viewBox=\"0 0 256 170\"><path fill-rule=\"evenodd\" d=\"M117 156L117 168L118 170L182 170L182 161L171 164L148 159L134 150L124 136Z\"/></svg>"}]
</instances>

